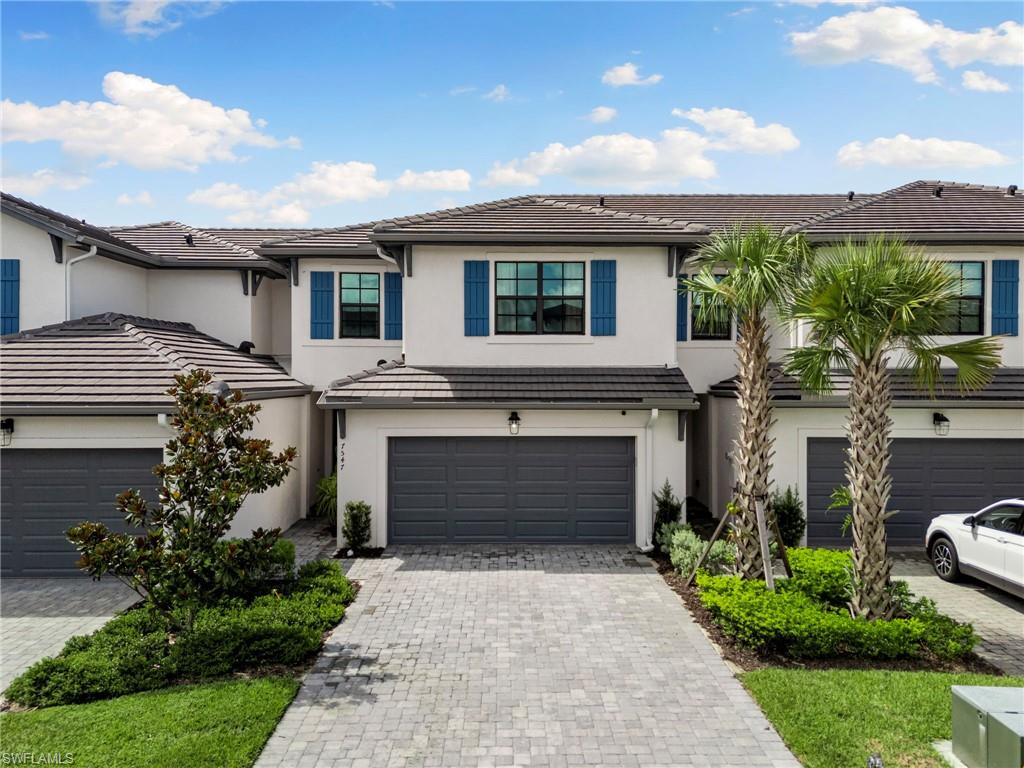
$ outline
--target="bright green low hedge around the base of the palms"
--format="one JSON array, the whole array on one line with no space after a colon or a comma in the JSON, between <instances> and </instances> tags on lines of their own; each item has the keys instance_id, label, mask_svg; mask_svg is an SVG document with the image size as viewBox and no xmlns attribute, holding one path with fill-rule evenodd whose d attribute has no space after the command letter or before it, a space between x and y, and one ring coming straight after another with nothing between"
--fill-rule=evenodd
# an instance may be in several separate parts
<instances>
[{"instance_id":1,"label":"bright green low hedge around the base of the palms","mask_svg":"<svg viewBox=\"0 0 1024 768\"><path fill-rule=\"evenodd\" d=\"M969 625L930 611L920 601L907 617L868 622L799 589L770 592L763 583L739 577L699 573L697 587L700 602L723 632L761 652L795 658L913 658L927 653L956 658L976 641Z\"/></svg>"}]
</instances>

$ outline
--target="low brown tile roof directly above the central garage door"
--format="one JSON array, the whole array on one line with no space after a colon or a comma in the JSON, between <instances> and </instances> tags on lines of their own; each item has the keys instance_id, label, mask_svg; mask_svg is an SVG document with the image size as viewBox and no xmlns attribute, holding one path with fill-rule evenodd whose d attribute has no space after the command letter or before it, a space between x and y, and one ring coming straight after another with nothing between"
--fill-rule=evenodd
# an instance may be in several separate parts
<instances>
[{"instance_id":1,"label":"low brown tile roof directly above the central garage door","mask_svg":"<svg viewBox=\"0 0 1024 768\"><path fill-rule=\"evenodd\" d=\"M329 408L692 408L694 402L693 390L678 368L411 368L400 362L334 381L319 400Z\"/></svg>"}]
</instances>

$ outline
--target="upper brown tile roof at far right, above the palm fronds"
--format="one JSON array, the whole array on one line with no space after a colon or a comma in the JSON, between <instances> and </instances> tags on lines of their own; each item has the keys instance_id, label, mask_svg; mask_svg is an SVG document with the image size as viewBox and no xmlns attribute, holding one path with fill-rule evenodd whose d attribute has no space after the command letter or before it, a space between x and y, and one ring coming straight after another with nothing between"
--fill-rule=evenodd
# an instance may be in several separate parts
<instances>
[{"instance_id":1,"label":"upper brown tile roof at far right, above the palm fronds","mask_svg":"<svg viewBox=\"0 0 1024 768\"><path fill-rule=\"evenodd\" d=\"M1024 194L955 181L911 181L812 216L790 231L805 232L816 240L888 232L914 241L1021 243Z\"/></svg>"}]
</instances>

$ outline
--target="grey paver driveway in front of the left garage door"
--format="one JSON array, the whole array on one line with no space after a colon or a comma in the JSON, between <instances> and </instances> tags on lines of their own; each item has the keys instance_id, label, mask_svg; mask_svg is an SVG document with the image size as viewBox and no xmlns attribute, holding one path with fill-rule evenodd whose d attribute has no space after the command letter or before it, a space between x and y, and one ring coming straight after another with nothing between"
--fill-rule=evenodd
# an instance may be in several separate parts
<instances>
[{"instance_id":1,"label":"grey paver driveway in front of the left garage door","mask_svg":"<svg viewBox=\"0 0 1024 768\"><path fill-rule=\"evenodd\" d=\"M0 581L0 690L73 635L95 632L138 595L120 582L90 579Z\"/></svg>"}]
</instances>

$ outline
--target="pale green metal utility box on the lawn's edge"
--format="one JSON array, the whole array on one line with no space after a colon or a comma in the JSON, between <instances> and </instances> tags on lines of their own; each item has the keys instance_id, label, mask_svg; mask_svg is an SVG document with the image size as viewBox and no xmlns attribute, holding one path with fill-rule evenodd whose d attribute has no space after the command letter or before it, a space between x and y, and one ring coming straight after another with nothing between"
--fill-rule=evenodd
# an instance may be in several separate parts
<instances>
[{"instance_id":1,"label":"pale green metal utility box on the lawn's edge","mask_svg":"<svg viewBox=\"0 0 1024 768\"><path fill-rule=\"evenodd\" d=\"M995 766L1021 768L1019 743L1016 748L1018 756L1016 765L1012 762L1011 754L1002 753L1005 739L1012 741L1006 736L1005 731L1013 731L1014 721L997 725L992 717L1024 716L1024 688L954 685L952 696L953 755L968 768L995 768ZM995 743L989 740L989 731L993 726L999 730Z\"/></svg>"}]
</instances>

